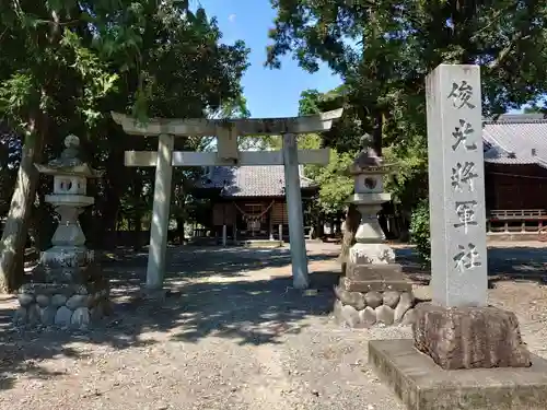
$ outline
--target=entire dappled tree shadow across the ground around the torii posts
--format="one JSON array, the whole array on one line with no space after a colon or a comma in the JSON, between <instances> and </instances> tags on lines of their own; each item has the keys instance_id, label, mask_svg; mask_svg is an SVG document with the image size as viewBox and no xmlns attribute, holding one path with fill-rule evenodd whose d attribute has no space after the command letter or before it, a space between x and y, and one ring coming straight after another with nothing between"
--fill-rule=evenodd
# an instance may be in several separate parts
<instances>
[{"instance_id":1,"label":"entire dappled tree shadow across the ground around the torii posts","mask_svg":"<svg viewBox=\"0 0 547 410\"><path fill-rule=\"evenodd\" d=\"M310 255L310 261L327 261L335 254ZM290 277L249 280L245 271L288 268L288 249L170 250L165 283L171 289L163 303L140 298L146 281L147 254L116 255L104 263L112 278L114 315L86 332L53 329L25 330L11 325L13 308L0 309L0 390L24 376L51 378L40 362L60 356L85 359L74 343L106 344L123 350L156 343L146 332L166 333L168 340L198 343L212 336L238 344L279 343L287 332L299 332L309 316L328 315L338 273L311 274L306 295L292 289ZM214 281L200 281L214 276ZM263 276L263 278L268 278Z\"/></svg>"}]
</instances>

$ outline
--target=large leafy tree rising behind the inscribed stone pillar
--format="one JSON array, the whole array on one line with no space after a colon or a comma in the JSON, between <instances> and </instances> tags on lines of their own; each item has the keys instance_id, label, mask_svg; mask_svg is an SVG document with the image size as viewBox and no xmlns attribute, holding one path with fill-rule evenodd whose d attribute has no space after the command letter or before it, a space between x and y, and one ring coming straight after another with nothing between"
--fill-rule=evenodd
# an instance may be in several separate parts
<instances>
[{"instance_id":1,"label":"large leafy tree rising behind the inscribed stone pillar","mask_svg":"<svg viewBox=\"0 0 547 410\"><path fill-rule=\"evenodd\" d=\"M373 136L377 152L404 163L395 198L412 209L427 195L424 75L439 63L480 63L485 115L535 102L547 89L547 10L542 1L493 0L272 0L277 9L267 63L293 52L309 70L327 62L342 77L338 99L358 133ZM358 148L337 133L331 147ZM387 154L387 153L386 153ZM420 185L421 184L421 185Z\"/></svg>"}]
</instances>

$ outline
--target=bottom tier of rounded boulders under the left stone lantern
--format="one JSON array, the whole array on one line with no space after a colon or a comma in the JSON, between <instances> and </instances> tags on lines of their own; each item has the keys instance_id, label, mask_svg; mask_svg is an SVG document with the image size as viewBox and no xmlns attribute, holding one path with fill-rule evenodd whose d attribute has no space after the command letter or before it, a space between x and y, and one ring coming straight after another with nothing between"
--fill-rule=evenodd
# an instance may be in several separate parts
<instances>
[{"instance_id":1,"label":"bottom tier of rounded boulders under the left stone lantern","mask_svg":"<svg viewBox=\"0 0 547 410\"><path fill-rule=\"evenodd\" d=\"M19 291L20 307L14 323L20 326L58 326L86 329L112 313L108 289L93 285L27 283Z\"/></svg>"}]
</instances>

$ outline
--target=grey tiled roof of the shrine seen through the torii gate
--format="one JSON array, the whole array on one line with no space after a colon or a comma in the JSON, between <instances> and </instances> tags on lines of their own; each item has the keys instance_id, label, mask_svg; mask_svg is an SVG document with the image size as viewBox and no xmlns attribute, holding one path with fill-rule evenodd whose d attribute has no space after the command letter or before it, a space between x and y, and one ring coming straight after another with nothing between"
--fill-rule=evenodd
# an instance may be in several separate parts
<instances>
[{"instance_id":1,"label":"grey tiled roof of the shrine seen through the torii gate","mask_svg":"<svg viewBox=\"0 0 547 410\"><path fill-rule=\"evenodd\" d=\"M208 171L197 188L222 189L223 197L284 197L283 165L214 166ZM313 187L313 181L302 175L301 166L300 186Z\"/></svg>"}]
</instances>

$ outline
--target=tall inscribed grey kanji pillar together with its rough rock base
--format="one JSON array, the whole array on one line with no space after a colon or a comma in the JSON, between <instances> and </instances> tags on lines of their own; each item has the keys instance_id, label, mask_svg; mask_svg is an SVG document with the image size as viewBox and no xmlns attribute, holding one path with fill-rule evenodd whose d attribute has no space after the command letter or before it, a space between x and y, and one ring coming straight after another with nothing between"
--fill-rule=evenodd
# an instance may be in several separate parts
<instances>
[{"instance_id":1,"label":"tall inscribed grey kanji pillar together with its rough rock base","mask_svg":"<svg viewBox=\"0 0 547 410\"><path fill-rule=\"evenodd\" d=\"M432 304L415 344L446 370L528 366L514 313L488 306L480 68L427 78Z\"/></svg>"}]
</instances>

